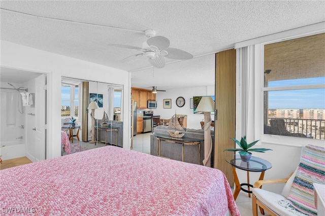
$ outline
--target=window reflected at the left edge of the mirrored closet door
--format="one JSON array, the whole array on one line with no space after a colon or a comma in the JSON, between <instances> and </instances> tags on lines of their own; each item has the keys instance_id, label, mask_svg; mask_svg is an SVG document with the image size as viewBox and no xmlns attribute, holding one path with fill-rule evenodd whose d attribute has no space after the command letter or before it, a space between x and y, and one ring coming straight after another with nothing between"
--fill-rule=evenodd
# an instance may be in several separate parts
<instances>
[{"instance_id":1,"label":"window reflected at the left edge of the mirrored closet door","mask_svg":"<svg viewBox=\"0 0 325 216\"><path fill-rule=\"evenodd\" d=\"M61 118L79 117L79 85L62 84Z\"/></svg>"}]
</instances>

